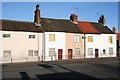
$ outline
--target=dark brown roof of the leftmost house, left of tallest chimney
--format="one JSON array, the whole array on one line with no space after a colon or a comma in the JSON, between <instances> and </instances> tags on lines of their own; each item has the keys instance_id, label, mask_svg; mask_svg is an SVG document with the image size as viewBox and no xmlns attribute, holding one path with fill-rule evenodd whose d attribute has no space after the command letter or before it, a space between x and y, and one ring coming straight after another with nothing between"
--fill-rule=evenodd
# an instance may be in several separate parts
<instances>
[{"instance_id":1,"label":"dark brown roof of the leftmost house, left of tallest chimney","mask_svg":"<svg viewBox=\"0 0 120 80\"><path fill-rule=\"evenodd\" d=\"M23 22L14 20L2 20L1 28L4 31L29 31L38 32L38 29L33 22ZM42 32L39 30L39 32Z\"/></svg>"}]
</instances>

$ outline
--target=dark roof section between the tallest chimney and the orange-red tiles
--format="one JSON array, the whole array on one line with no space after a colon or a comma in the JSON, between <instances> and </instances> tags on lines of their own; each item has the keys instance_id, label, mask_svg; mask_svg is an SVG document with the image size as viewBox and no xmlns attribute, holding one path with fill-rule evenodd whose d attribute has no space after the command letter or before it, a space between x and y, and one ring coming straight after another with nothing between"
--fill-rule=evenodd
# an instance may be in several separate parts
<instances>
[{"instance_id":1,"label":"dark roof section between the tallest chimney and the orange-red tiles","mask_svg":"<svg viewBox=\"0 0 120 80\"><path fill-rule=\"evenodd\" d=\"M82 33L70 20L42 18L41 23L44 31Z\"/></svg>"}]
</instances>

